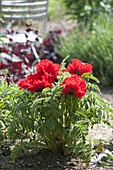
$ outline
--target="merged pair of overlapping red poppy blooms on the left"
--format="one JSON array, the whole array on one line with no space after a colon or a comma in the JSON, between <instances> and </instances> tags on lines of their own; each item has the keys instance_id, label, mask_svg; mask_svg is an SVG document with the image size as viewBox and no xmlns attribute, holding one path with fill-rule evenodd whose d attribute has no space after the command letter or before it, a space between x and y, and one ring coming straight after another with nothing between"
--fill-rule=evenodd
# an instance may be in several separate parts
<instances>
[{"instance_id":1,"label":"merged pair of overlapping red poppy blooms on the left","mask_svg":"<svg viewBox=\"0 0 113 170\"><path fill-rule=\"evenodd\" d=\"M50 60L42 60L36 65L36 73L30 74L24 79L20 79L18 86L20 89L27 89L30 92L37 92L46 87L51 87L58 75L59 64L54 64Z\"/></svg>"}]
</instances>

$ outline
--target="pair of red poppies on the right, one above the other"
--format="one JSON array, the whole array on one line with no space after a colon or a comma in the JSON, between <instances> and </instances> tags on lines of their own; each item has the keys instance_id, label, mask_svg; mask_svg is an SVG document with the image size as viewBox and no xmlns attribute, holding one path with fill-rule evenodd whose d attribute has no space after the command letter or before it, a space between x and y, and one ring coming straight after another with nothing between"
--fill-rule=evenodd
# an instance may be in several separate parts
<instances>
[{"instance_id":1,"label":"pair of red poppies on the right, one above the other","mask_svg":"<svg viewBox=\"0 0 113 170\"><path fill-rule=\"evenodd\" d=\"M62 85L64 88L62 94L73 93L77 98L82 98L86 93L86 82L81 77L83 73L92 73L93 66L88 63L83 63L76 58L72 60L72 64L68 64L68 71L73 74L71 77L66 78ZM79 74L79 75L78 75Z\"/></svg>"}]
</instances>

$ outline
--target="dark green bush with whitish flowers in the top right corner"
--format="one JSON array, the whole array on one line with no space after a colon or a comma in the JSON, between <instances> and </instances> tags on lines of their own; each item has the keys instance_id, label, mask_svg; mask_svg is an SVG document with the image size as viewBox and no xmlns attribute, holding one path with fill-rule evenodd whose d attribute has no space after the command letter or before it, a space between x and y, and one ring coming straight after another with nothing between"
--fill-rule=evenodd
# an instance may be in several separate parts
<instances>
[{"instance_id":1,"label":"dark green bush with whitish flowers in the top right corner","mask_svg":"<svg viewBox=\"0 0 113 170\"><path fill-rule=\"evenodd\" d=\"M112 0L64 0L67 14L92 28L94 20L103 13L112 14Z\"/></svg>"}]
</instances>

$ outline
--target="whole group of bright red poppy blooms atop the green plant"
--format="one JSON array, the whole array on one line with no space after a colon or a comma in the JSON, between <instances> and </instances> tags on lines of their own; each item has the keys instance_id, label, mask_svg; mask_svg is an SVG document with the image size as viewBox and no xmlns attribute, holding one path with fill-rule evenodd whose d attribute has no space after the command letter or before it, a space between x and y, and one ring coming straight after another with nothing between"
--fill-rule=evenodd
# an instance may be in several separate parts
<instances>
[{"instance_id":1,"label":"whole group of bright red poppy blooms atop the green plant","mask_svg":"<svg viewBox=\"0 0 113 170\"><path fill-rule=\"evenodd\" d=\"M86 91L86 81L81 77L83 73L92 73L92 65L82 63L80 60L74 59L72 64L68 65L67 69L63 69L62 73L69 71L70 77L65 78L61 86L63 86L62 94L74 94L77 98L81 99ZM36 65L36 73L30 74L26 78L21 79L18 83L20 89L27 89L30 92L37 92L46 87L52 87L52 83L56 80L60 65L45 59ZM78 73L77 75L75 73ZM62 74L61 74L62 76Z\"/></svg>"}]
</instances>

